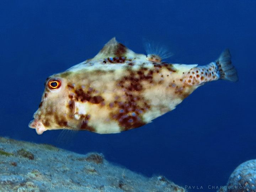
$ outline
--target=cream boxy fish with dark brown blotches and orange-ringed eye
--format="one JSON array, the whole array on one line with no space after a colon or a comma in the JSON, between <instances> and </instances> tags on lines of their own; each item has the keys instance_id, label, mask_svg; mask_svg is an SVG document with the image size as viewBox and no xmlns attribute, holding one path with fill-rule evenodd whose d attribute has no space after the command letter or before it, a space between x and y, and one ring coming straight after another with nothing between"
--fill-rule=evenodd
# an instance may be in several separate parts
<instances>
[{"instance_id":1,"label":"cream boxy fish with dark brown blotches and orange-ringed eye","mask_svg":"<svg viewBox=\"0 0 256 192\"><path fill-rule=\"evenodd\" d=\"M29 127L119 133L172 111L206 82L238 81L228 49L207 65L163 62L112 38L91 59L49 76Z\"/></svg>"}]
</instances>

